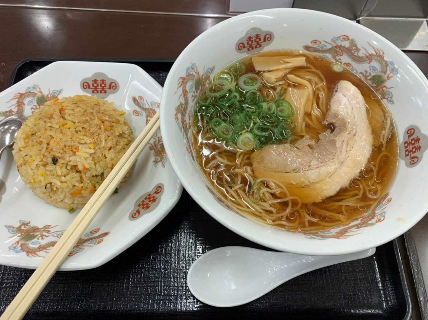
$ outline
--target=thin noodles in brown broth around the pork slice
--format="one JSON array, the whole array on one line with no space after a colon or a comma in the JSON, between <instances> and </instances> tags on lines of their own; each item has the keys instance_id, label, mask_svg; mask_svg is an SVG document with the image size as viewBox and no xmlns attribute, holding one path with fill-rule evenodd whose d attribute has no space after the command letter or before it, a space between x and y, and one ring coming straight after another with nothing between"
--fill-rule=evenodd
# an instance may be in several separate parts
<instances>
[{"instance_id":1,"label":"thin noodles in brown broth around the pork slice","mask_svg":"<svg viewBox=\"0 0 428 320\"><path fill-rule=\"evenodd\" d=\"M271 54L278 55L278 52ZM281 52L281 55L301 56L303 54ZM312 107L311 112L303 117L301 132L291 136L291 143L303 137L318 141L318 135L329 129L323 121L328 111L327 102L337 81L351 81L358 87L366 101L375 96L373 90L350 71L335 73L331 70L331 61L311 55L304 56L307 65L293 68L288 74L309 81L312 85L313 94L310 103ZM250 60L244 62L250 68L250 72L257 74L256 71L251 70ZM289 87L298 86L301 84L292 83L285 76L284 80L276 81L274 84L263 84L259 87L259 92L264 99L273 101L284 99ZM279 97L280 93L281 97ZM376 102L385 114L389 114L380 99ZM367 109L368 114L371 114L369 106ZM197 113L196 116L198 116ZM318 203L303 204L299 197L290 194L279 181L255 177L250 158L253 150L238 151L226 146L209 134L208 125L203 116L199 115L197 118L199 120L194 122L194 128L196 126L198 128L192 130L194 150L198 150L196 155L202 172L214 189L235 211L256 221L289 230L321 230L359 218L374 207L377 200L385 194L397 166L398 143L395 128L389 116L386 124L387 130L392 127L392 134L388 139L385 132L380 133L379 141L383 143L373 149L359 177L353 179L348 187L342 188L330 198ZM331 129L334 130L334 128ZM204 153L202 154L199 150L204 150Z\"/></svg>"}]
</instances>

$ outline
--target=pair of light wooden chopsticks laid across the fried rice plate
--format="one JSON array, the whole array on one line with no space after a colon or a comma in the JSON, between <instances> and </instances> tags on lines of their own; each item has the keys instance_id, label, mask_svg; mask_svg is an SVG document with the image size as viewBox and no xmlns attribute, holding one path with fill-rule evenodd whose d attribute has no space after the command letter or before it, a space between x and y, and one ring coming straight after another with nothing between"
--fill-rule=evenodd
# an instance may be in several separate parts
<instances>
[{"instance_id":1,"label":"pair of light wooden chopsticks laid across the fried rice plate","mask_svg":"<svg viewBox=\"0 0 428 320\"><path fill-rule=\"evenodd\" d=\"M76 242L80 239L83 232L89 227L89 224L95 218L103 204L113 194L116 186L125 177L128 170L137 160L137 157L143 151L144 147L152 139L153 135L159 129L159 112L150 120L149 124L140 133L134 143L131 144L128 151L119 160L110 174L101 183L101 186L89 199L88 203L83 207L79 214L74 218L71 225L65 230L59 241L52 248L51 252L46 256L39 268L34 271L33 275L28 279L27 283L18 292L12 303L6 308L0 320L17 320L22 319L28 309L34 303L34 300L39 297L43 288L48 284L53 274L62 265L68 253L73 249Z\"/></svg>"}]
</instances>

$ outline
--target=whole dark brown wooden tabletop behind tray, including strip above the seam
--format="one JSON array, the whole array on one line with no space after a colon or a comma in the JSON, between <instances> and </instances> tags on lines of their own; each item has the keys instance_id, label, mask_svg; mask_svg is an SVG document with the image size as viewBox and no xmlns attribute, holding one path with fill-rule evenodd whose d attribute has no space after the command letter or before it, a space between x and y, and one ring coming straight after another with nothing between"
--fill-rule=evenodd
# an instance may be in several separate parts
<instances>
[{"instance_id":1,"label":"whole dark brown wooden tabletop behind tray, including strip above the seam","mask_svg":"<svg viewBox=\"0 0 428 320\"><path fill-rule=\"evenodd\" d=\"M27 58L174 59L196 36L228 17L226 0L118 3L0 0L0 91L13 67ZM407 54L428 76L426 53Z\"/></svg>"}]
</instances>

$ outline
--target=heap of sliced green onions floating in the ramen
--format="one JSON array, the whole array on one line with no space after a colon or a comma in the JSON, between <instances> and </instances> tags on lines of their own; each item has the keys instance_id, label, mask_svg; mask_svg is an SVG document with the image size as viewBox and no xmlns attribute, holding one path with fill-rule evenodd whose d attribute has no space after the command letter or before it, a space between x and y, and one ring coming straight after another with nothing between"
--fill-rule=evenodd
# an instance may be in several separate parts
<instances>
[{"instance_id":1,"label":"heap of sliced green onions floating in the ramen","mask_svg":"<svg viewBox=\"0 0 428 320\"><path fill-rule=\"evenodd\" d=\"M241 74L246 68L244 63L237 63L214 76L197 98L192 130L200 132L205 121L211 137L226 147L246 151L282 143L296 127L288 120L294 110L288 101L280 99L282 92L274 101L263 98L258 90L259 76Z\"/></svg>"}]
</instances>

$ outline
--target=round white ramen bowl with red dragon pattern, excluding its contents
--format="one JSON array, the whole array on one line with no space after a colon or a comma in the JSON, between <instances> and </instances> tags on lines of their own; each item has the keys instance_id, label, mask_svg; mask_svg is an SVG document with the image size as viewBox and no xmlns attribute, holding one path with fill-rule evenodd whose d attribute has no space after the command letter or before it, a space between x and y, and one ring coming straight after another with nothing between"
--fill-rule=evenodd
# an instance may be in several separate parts
<instances>
[{"instance_id":1,"label":"round white ramen bowl with red dragon pattern, excluding its contents","mask_svg":"<svg viewBox=\"0 0 428 320\"><path fill-rule=\"evenodd\" d=\"M189 144L196 97L210 76L227 64L272 49L311 51L341 62L375 87L392 111L401 157L389 193L373 212L330 230L290 232L228 209L205 180ZM400 236L428 211L424 181L428 156L422 159L428 144L428 81L397 47L357 23L302 9L268 9L232 17L184 49L169 72L161 101L164 145L184 188L217 221L251 241L300 254L352 253ZM407 156L404 142L414 147L409 149L406 143Z\"/></svg>"}]
</instances>

